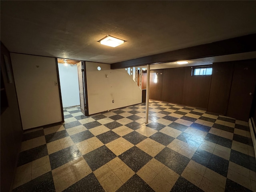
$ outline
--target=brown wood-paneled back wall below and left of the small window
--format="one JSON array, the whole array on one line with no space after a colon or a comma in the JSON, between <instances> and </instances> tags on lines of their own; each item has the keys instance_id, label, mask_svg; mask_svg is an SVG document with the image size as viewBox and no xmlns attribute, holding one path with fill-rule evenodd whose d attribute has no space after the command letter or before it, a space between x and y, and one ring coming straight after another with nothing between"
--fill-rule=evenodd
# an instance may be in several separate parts
<instances>
[{"instance_id":1,"label":"brown wood-paneled back wall below and left of the small window","mask_svg":"<svg viewBox=\"0 0 256 192\"><path fill-rule=\"evenodd\" d=\"M207 108L211 76L191 76L191 70L191 67L150 70L150 99Z\"/></svg>"}]
</instances>

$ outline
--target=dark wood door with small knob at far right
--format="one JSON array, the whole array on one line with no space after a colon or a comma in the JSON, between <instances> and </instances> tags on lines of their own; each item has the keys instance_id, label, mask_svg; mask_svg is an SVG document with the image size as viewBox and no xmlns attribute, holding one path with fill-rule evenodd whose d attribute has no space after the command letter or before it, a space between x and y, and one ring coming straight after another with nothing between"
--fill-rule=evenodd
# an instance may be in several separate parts
<instances>
[{"instance_id":1,"label":"dark wood door with small knob at far right","mask_svg":"<svg viewBox=\"0 0 256 192\"><path fill-rule=\"evenodd\" d=\"M256 60L234 65L227 116L248 121L256 85Z\"/></svg>"}]
</instances>

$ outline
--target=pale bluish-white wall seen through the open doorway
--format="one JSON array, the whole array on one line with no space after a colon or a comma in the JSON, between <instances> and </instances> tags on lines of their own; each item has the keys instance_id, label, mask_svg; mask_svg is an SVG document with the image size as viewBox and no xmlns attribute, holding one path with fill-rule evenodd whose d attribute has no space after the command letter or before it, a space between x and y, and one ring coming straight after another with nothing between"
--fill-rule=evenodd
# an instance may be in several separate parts
<instances>
[{"instance_id":1,"label":"pale bluish-white wall seen through the open doorway","mask_svg":"<svg viewBox=\"0 0 256 192\"><path fill-rule=\"evenodd\" d=\"M80 105L77 65L58 64L62 106Z\"/></svg>"}]
</instances>

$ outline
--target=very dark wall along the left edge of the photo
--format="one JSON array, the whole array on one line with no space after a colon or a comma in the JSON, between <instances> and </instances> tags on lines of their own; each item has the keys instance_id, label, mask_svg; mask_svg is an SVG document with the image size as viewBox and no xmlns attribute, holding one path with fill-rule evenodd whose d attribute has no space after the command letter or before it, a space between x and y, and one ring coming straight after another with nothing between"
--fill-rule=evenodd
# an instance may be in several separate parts
<instances>
[{"instance_id":1,"label":"very dark wall along the left edge of the photo","mask_svg":"<svg viewBox=\"0 0 256 192\"><path fill-rule=\"evenodd\" d=\"M12 82L9 83L6 67L4 66L6 56L10 64L10 75ZM12 73L10 52L1 43L1 72L4 81L4 88L8 100L8 107L1 112L1 190L2 192L10 191L18 152L21 146L22 139L22 124L20 119L20 111L18 107L18 100L14 78Z\"/></svg>"}]
</instances>

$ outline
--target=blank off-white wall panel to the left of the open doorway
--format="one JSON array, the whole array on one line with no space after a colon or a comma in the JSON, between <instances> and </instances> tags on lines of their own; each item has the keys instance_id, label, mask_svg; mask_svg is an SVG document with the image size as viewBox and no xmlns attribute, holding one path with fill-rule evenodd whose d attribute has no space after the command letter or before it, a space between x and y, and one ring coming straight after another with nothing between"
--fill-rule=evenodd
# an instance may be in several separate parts
<instances>
[{"instance_id":1,"label":"blank off-white wall panel to the left of the open doorway","mask_svg":"<svg viewBox=\"0 0 256 192\"><path fill-rule=\"evenodd\" d=\"M11 53L23 129L62 121L55 58Z\"/></svg>"}]
</instances>

